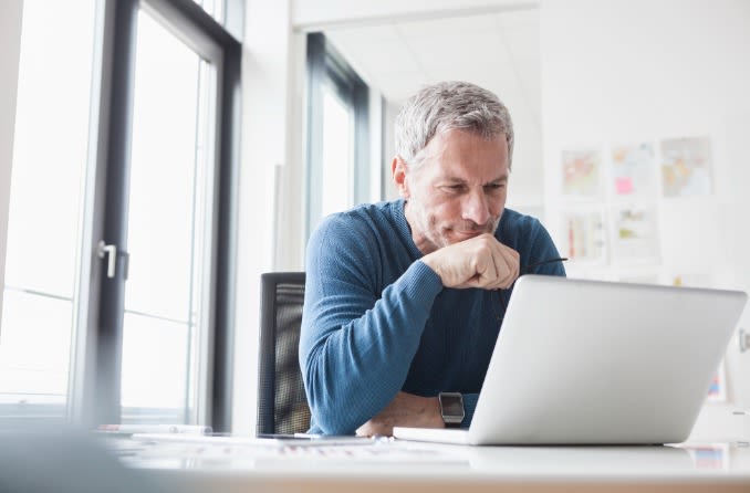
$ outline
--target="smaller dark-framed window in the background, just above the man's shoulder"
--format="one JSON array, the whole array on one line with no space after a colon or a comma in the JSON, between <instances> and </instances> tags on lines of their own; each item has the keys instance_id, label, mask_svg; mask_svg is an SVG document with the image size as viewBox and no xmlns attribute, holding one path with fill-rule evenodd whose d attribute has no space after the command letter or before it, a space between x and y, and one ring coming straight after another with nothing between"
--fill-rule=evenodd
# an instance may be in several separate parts
<instances>
[{"instance_id":1,"label":"smaller dark-framed window in the background, just above the man's shoulder","mask_svg":"<svg viewBox=\"0 0 750 493\"><path fill-rule=\"evenodd\" d=\"M368 199L368 90L321 33L308 35L308 235Z\"/></svg>"}]
</instances>

